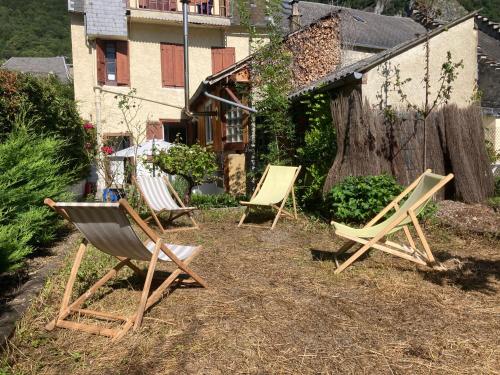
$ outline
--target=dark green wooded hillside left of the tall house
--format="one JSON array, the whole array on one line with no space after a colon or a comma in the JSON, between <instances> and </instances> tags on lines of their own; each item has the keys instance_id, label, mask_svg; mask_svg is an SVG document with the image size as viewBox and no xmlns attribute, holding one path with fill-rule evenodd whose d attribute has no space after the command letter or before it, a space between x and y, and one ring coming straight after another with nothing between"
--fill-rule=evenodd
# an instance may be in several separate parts
<instances>
[{"instance_id":1,"label":"dark green wooded hillside left of the tall house","mask_svg":"<svg viewBox=\"0 0 500 375\"><path fill-rule=\"evenodd\" d=\"M67 0L0 1L0 61L12 56L71 57Z\"/></svg>"}]
</instances>

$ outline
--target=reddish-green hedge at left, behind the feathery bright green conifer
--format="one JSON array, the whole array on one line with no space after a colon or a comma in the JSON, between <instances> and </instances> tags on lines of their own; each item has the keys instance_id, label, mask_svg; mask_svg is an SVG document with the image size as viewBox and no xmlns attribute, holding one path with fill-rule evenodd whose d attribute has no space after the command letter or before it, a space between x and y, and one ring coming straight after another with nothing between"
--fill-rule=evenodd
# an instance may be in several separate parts
<instances>
[{"instance_id":1,"label":"reddish-green hedge at left, behind the feathery bright green conifer","mask_svg":"<svg viewBox=\"0 0 500 375\"><path fill-rule=\"evenodd\" d=\"M68 160L66 170L79 176L88 172L83 121L71 85L54 77L0 70L0 142L13 131L20 113L33 123L30 127L33 136L55 136L64 141L59 151Z\"/></svg>"}]
</instances>

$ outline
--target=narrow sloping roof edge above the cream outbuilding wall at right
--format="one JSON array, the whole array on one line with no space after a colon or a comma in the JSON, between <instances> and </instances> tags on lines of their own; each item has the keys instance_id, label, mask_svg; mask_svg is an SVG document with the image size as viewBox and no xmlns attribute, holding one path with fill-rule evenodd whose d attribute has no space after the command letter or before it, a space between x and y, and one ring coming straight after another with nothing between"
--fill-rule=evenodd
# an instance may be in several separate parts
<instances>
[{"instance_id":1,"label":"narrow sloping roof edge above the cream outbuilding wall at right","mask_svg":"<svg viewBox=\"0 0 500 375\"><path fill-rule=\"evenodd\" d=\"M434 36L440 34L443 31L448 30L450 27L458 25L476 15L476 12L470 13L464 17L461 17L453 22L450 22L444 26L440 26L429 32L429 37L433 38ZM354 64L345 66L343 68L334 70L330 74L325 77L310 83L309 85L299 88L295 92L289 95L289 98L294 100L304 94L309 92L313 92L319 89L327 88L327 87L336 87L342 85L343 82L347 79L360 79L362 77L362 73L367 72L370 69L380 65L381 63L389 60L390 58L397 56L410 48L413 48L421 43L424 43L426 40L426 35L421 35L412 40L400 43L392 48L389 48L385 51L379 52L375 55L372 55L366 59L357 61Z\"/></svg>"}]
</instances>

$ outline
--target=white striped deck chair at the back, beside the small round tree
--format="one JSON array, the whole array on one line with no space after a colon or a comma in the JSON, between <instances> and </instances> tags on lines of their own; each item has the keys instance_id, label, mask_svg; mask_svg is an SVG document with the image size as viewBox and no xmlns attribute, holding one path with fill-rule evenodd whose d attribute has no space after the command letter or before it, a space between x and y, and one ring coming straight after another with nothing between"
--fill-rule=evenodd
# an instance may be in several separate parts
<instances>
[{"instance_id":1,"label":"white striped deck chair at the back, beside the small round tree","mask_svg":"<svg viewBox=\"0 0 500 375\"><path fill-rule=\"evenodd\" d=\"M153 218L162 233L199 228L198 223L193 218L193 211L196 210L196 207L184 206L184 203L167 178L140 176L137 178L134 177L133 182L139 189L142 199L144 199L151 211L151 216L147 218L146 221ZM172 195L175 199L172 198ZM193 223L193 226L166 230L161 225L158 217L163 212L168 212L169 214L167 224L181 216L187 215Z\"/></svg>"}]
</instances>

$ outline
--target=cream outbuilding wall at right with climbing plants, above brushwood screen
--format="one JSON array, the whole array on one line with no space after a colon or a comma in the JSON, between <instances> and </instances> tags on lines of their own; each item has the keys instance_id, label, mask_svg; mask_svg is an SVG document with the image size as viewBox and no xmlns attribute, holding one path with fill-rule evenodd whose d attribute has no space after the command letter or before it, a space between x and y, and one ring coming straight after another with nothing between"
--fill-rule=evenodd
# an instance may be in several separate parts
<instances>
[{"instance_id":1,"label":"cream outbuilding wall at right with climbing plants, above brushwood screen","mask_svg":"<svg viewBox=\"0 0 500 375\"><path fill-rule=\"evenodd\" d=\"M450 102L459 107L471 103L474 87L477 82L477 31L474 29L474 19L470 18L450 29L441 32L430 39L430 80L431 100L435 98L438 90L438 80L441 66L446 61L447 52L451 52L452 61L462 60L463 69L459 69L459 75L453 82L453 92ZM391 59L388 62L392 67L398 66L401 71L401 79L410 78L411 81L404 85L403 91L408 100L422 107L425 103L425 85L423 78L425 74L425 43L419 44ZM385 82L385 77L377 67L365 72L362 84L363 97L369 103L378 102L377 93L380 92ZM400 96L396 92L390 92L389 105L400 105Z\"/></svg>"}]
</instances>

